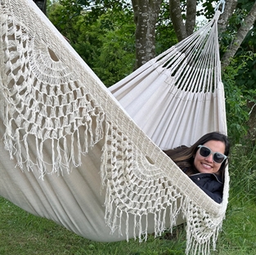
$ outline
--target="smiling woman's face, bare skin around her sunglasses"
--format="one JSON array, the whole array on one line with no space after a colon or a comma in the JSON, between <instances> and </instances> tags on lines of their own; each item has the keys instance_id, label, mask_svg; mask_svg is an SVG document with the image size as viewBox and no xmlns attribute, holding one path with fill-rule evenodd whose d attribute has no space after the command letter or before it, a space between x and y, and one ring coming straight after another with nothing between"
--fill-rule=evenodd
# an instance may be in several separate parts
<instances>
[{"instance_id":1,"label":"smiling woman's face, bare skin around her sunglasses","mask_svg":"<svg viewBox=\"0 0 256 255\"><path fill-rule=\"evenodd\" d=\"M212 150L213 153L220 152L224 154L225 152L225 143L222 141L207 141L204 143L204 146ZM199 150L197 150L194 165L198 172L217 173L222 164L213 161L213 154L209 154L209 156L205 158L202 157L199 154Z\"/></svg>"}]
</instances>

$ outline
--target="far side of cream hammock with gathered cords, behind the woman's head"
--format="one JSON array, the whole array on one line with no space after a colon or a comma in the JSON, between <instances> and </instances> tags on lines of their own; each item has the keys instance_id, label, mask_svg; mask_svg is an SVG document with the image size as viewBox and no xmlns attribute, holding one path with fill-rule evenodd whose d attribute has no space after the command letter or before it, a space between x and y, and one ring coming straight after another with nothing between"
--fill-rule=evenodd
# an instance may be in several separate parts
<instances>
[{"instance_id":1,"label":"far side of cream hammock with gathered cords, behind the woman's head","mask_svg":"<svg viewBox=\"0 0 256 255\"><path fill-rule=\"evenodd\" d=\"M110 87L126 112L163 150L192 145L207 132L227 133L213 20Z\"/></svg>"}]
</instances>

